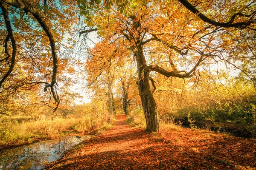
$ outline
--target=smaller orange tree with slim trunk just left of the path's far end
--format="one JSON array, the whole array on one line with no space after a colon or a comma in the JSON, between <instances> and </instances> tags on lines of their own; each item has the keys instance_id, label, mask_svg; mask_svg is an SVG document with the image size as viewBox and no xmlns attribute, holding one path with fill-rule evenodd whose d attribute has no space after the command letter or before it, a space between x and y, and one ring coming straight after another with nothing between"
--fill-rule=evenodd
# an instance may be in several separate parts
<instances>
[{"instance_id":1,"label":"smaller orange tree with slim trunk just left of the path's far end","mask_svg":"<svg viewBox=\"0 0 256 170\"><path fill-rule=\"evenodd\" d=\"M94 48L88 48L88 58L85 65L87 87L96 89L106 88L108 95L108 111L114 113L113 88L116 80L115 48L110 48L108 41L96 43ZM104 57L103 57L104 56ZM104 93L104 92L103 92Z\"/></svg>"}]
</instances>

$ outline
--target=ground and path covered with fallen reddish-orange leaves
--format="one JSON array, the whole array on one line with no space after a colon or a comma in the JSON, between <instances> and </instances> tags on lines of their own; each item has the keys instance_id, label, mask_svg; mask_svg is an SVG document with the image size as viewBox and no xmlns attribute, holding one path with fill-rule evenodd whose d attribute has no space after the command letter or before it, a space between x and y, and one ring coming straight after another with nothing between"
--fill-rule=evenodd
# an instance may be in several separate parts
<instances>
[{"instance_id":1,"label":"ground and path covered with fallen reddish-orange leaves","mask_svg":"<svg viewBox=\"0 0 256 170\"><path fill-rule=\"evenodd\" d=\"M115 125L68 151L47 169L256 170L256 140L175 125L159 133Z\"/></svg>"}]
</instances>

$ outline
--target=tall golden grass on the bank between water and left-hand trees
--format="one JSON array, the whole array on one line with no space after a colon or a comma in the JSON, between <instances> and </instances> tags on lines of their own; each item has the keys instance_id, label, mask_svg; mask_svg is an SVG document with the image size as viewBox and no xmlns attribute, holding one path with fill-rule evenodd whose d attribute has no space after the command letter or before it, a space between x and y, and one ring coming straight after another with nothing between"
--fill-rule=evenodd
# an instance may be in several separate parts
<instances>
[{"instance_id":1,"label":"tall golden grass on the bank between water and left-hand trees","mask_svg":"<svg viewBox=\"0 0 256 170\"><path fill-rule=\"evenodd\" d=\"M90 106L91 107L91 106ZM1 119L0 147L34 142L40 139L54 139L56 137L87 133L109 123L110 116L99 111L73 109L65 116L38 116L33 119L9 117Z\"/></svg>"}]
</instances>

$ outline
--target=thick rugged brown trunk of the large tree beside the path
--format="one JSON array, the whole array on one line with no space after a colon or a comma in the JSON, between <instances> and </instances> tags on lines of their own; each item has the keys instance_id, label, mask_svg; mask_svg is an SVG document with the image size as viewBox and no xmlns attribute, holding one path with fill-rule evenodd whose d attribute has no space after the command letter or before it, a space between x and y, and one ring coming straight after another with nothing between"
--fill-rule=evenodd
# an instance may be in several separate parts
<instances>
[{"instance_id":1,"label":"thick rugged brown trunk of the large tree beside the path","mask_svg":"<svg viewBox=\"0 0 256 170\"><path fill-rule=\"evenodd\" d=\"M134 51L134 55L137 60L137 68L138 68L138 80L137 85L139 87L139 94L143 106L143 111L147 123L148 131L158 131L159 130L159 122L157 115L157 105L154 100L153 94L150 90L149 84L149 71L146 69L146 60L143 54L142 45L137 45L136 51Z\"/></svg>"}]
</instances>

